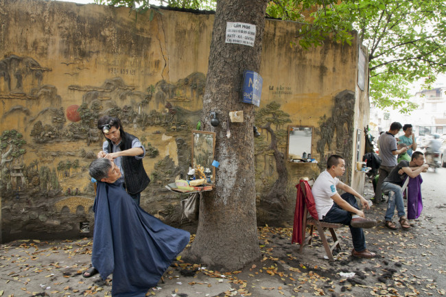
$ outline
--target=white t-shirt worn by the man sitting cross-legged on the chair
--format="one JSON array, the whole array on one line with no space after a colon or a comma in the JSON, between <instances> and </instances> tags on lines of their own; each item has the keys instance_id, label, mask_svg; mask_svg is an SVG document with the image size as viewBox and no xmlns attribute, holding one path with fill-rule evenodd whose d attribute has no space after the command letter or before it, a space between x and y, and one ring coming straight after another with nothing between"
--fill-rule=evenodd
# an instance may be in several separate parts
<instances>
[{"instance_id":1,"label":"white t-shirt worn by the man sitting cross-legged on the chair","mask_svg":"<svg viewBox=\"0 0 446 297\"><path fill-rule=\"evenodd\" d=\"M316 204L316 211L319 219L326 215L333 206L333 199L330 197L338 193L336 186L339 183L338 178L333 178L327 170L319 174L312 187L314 203Z\"/></svg>"}]
</instances>

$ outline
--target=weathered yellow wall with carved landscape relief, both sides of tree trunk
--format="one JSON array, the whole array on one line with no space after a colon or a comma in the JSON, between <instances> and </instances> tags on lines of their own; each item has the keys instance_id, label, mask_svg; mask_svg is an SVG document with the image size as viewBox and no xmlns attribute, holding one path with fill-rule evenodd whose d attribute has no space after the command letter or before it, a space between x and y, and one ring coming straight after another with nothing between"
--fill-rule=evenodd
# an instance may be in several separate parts
<instances>
[{"instance_id":1,"label":"weathered yellow wall with carved landscape relief, both sides of tree trunk","mask_svg":"<svg viewBox=\"0 0 446 297\"><path fill-rule=\"evenodd\" d=\"M190 131L207 116L213 15L149 15L135 21L128 10L104 5L0 1L0 241L91 235L95 190L87 169L102 149L96 124L106 114L145 146L152 181L141 193L143 209L180 224L181 196L164 186L186 176ZM255 115L259 222L292 217L298 179L316 177L329 152L352 150L356 99L340 91L355 90L357 47L327 42L303 52L289 46L297 29L267 21L263 37ZM290 123L315 128L319 165L285 161Z\"/></svg>"}]
</instances>

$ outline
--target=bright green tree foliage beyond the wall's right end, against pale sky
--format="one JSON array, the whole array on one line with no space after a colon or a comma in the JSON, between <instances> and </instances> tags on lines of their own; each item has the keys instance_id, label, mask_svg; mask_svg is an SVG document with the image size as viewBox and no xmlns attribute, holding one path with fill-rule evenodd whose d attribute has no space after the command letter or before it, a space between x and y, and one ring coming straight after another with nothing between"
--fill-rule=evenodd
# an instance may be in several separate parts
<instances>
[{"instance_id":1,"label":"bright green tree foliage beyond the wall's right end, against pale sky","mask_svg":"<svg viewBox=\"0 0 446 297\"><path fill-rule=\"evenodd\" d=\"M408 84L430 86L446 72L446 3L443 0L344 1L336 11L353 23L368 49L370 96L379 107L416 108Z\"/></svg>"}]
</instances>

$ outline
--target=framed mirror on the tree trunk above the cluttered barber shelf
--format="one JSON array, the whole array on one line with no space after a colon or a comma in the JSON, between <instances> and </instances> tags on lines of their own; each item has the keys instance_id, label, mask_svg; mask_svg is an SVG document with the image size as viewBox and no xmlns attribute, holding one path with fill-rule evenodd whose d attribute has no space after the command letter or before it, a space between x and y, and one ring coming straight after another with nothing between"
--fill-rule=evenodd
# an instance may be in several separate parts
<instances>
[{"instance_id":1,"label":"framed mirror on the tree trunk above the cluttered barber shelf","mask_svg":"<svg viewBox=\"0 0 446 297\"><path fill-rule=\"evenodd\" d=\"M192 167L204 167L204 173L215 182L215 167L212 166L215 154L215 132L192 130Z\"/></svg>"}]
</instances>

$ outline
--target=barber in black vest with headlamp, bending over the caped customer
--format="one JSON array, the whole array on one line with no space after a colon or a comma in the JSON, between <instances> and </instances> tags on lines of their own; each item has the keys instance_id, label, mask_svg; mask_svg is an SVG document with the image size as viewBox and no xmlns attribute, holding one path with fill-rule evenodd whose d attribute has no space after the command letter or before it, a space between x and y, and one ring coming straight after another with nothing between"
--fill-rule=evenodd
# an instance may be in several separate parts
<instances>
[{"instance_id":1,"label":"barber in black vest with headlamp, bending over the caped customer","mask_svg":"<svg viewBox=\"0 0 446 297\"><path fill-rule=\"evenodd\" d=\"M117 117L104 115L97 121L97 128L102 130L106 138L102 151L97 153L97 158L114 161L122 174L119 181L124 181L124 189L139 205L141 192L150 182L142 161L145 156L144 146L137 136L124 132Z\"/></svg>"}]
</instances>

